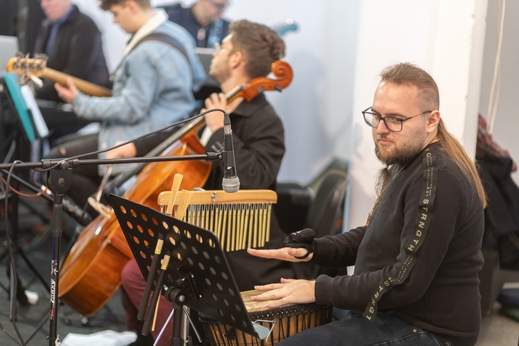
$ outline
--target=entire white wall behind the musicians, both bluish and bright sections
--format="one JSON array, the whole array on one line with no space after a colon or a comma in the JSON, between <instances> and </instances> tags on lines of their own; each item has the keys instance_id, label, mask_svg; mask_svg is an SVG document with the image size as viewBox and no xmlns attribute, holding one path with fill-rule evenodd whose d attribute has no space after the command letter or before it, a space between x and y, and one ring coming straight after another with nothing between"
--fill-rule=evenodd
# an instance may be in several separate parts
<instances>
[{"instance_id":1,"label":"entire white wall behind the musicians, both bluish and bright sections","mask_svg":"<svg viewBox=\"0 0 519 346\"><path fill-rule=\"evenodd\" d=\"M95 0L75 2L85 12L97 10ZM372 104L381 69L401 61L415 63L435 78L441 116L473 155L486 5L487 0L233 1L226 10L230 20L274 26L291 18L298 24L296 32L284 36L293 82L282 93L267 96L286 129L279 180L307 183L332 157L347 159L349 226L364 224L380 166L361 110ZM109 19L100 21L112 67L125 42L117 37L125 35L107 24L111 16L104 15Z\"/></svg>"}]
</instances>

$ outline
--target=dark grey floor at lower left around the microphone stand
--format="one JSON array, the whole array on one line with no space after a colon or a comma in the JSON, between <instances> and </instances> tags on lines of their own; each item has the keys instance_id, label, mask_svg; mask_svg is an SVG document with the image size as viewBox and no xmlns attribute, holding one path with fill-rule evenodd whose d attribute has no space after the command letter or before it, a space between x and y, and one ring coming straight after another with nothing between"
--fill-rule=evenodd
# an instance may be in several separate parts
<instances>
[{"instance_id":1,"label":"dark grey floor at lower left around the microphone stand","mask_svg":"<svg viewBox=\"0 0 519 346\"><path fill-rule=\"evenodd\" d=\"M53 248L51 224L45 224L45 221L37 216L38 213L41 213L42 216L48 214L45 202L30 202L28 205L33 210L26 210L22 206L19 213L18 244L24 249L25 255L17 256L17 273L24 288L37 293L39 298L35 305L17 304L16 311L14 311L17 316L16 327L26 345L49 345L46 338L50 335L51 330L51 322L48 318L51 306L49 286ZM9 261L8 257L3 255L7 250L5 224L3 222L0 224L0 345L21 345L15 324L10 318L13 312L8 293L10 280L6 270ZM78 224L73 219L64 217L63 236L60 239L61 255L66 252L77 226ZM41 278L35 272L39 273ZM85 294L88 293L85 292ZM92 334L107 329L125 331L120 297L118 293L113 295L111 300L91 318L82 318L73 309L61 304L58 306L58 318L55 325L57 334L62 339L69 333Z\"/></svg>"}]
</instances>

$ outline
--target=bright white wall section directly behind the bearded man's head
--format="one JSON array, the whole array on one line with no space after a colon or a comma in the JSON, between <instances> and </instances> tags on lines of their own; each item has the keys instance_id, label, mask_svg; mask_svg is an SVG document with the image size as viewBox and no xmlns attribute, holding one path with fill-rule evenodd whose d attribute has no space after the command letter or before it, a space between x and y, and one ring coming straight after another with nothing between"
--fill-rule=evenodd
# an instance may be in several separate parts
<instances>
[{"instance_id":1,"label":"bright white wall section directly behind the bearded man's head","mask_svg":"<svg viewBox=\"0 0 519 346\"><path fill-rule=\"evenodd\" d=\"M377 73L384 66L415 63L435 78L441 117L473 156L485 13L486 1L478 0L363 1L354 109L372 104ZM354 120L350 227L365 223L373 203L373 176L380 167L372 154L371 132L361 117Z\"/></svg>"}]
</instances>

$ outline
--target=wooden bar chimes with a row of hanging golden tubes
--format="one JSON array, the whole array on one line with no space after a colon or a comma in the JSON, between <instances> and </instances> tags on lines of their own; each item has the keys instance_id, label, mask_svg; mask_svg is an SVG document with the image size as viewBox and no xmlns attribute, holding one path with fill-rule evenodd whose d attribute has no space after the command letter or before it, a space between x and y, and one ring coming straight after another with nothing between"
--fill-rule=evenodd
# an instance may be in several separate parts
<instances>
[{"instance_id":1,"label":"wooden bar chimes with a row of hanging golden tubes","mask_svg":"<svg viewBox=\"0 0 519 346\"><path fill-rule=\"evenodd\" d=\"M161 212L176 219L211 230L225 251L264 246L268 242L272 204L277 194L272 190L223 190L161 192Z\"/></svg>"}]
</instances>

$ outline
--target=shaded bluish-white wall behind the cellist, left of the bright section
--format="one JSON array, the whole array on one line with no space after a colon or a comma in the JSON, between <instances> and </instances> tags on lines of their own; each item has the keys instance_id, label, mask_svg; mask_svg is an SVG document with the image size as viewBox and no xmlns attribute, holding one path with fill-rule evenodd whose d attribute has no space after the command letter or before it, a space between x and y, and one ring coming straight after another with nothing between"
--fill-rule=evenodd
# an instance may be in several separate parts
<instances>
[{"instance_id":1,"label":"shaded bluish-white wall behind the cellist, left of the bright section","mask_svg":"<svg viewBox=\"0 0 519 346\"><path fill-rule=\"evenodd\" d=\"M127 35L111 24L111 14L97 0L75 0L104 35L109 69L118 64ZM192 1L183 1L192 3ZM154 5L171 3L155 0ZM284 35L293 82L282 93L268 93L286 128L287 154L281 181L307 183L331 159L347 158L352 122L358 10L361 1L233 1L225 17L249 19L268 26L293 19L298 30ZM358 116L358 115L357 115Z\"/></svg>"}]
</instances>

